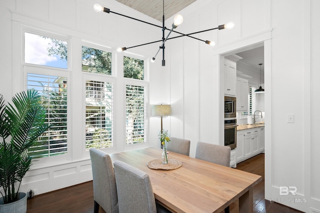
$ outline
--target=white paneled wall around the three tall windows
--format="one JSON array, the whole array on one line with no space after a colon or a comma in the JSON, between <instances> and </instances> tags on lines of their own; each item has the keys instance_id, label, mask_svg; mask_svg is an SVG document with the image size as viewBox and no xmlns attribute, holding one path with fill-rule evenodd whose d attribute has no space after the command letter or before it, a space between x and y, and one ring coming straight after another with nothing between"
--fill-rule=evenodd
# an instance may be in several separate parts
<instances>
[{"instance_id":1,"label":"white paneled wall around the three tall windows","mask_svg":"<svg viewBox=\"0 0 320 213\"><path fill-rule=\"evenodd\" d=\"M155 19L143 15L114 0L12 0L0 1L0 23L3 27L0 34L0 92L6 101L11 96L24 89L23 87L23 30L33 30L61 36L68 40L69 57L68 72L70 76L70 96L68 100L73 104L70 107L68 119L68 154L65 158L57 160L56 157L42 158L34 162L31 169L22 180L21 192L35 189L35 193L44 193L69 185L92 179L88 151L83 148L83 106L82 100L82 73L81 73L81 45L83 40L109 46L114 63L112 64L116 78L115 101L123 101L123 77L121 67L123 53L117 53L119 46L132 46L153 40L161 39L161 28L140 23L112 13L95 12L93 4L110 8L112 11L132 15L157 25ZM5 29L5 30L4 30ZM159 43L128 49L128 52L143 57L147 66L146 78L149 79L149 106L148 118L151 114L151 105L168 103L169 73L166 67L161 66L160 57L154 63L149 63ZM152 56L151 56L152 55ZM167 58L169 56L166 56ZM34 66L36 67L36 66ZM122 75L123 76L123 75ZM164 88L164 89L163 89ZM70 103L69 102L69 103ZM115 127L114 151L123 151L138 146L124 146L124 116L122 107L117 108L115 116L119 124ZM121 123L123 125L121 125ZM143 146L157 146L158 132L160 130L159 117L148 119L150 133L147 143Z\"/></svg>"}]
</instances>

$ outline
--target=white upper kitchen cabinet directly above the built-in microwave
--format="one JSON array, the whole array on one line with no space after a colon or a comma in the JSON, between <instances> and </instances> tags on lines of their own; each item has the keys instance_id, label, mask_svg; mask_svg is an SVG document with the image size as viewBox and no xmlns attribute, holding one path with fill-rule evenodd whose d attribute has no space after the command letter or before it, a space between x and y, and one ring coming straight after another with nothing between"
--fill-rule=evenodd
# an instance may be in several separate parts
<instances>
[{"instance_id":1,"label":"white upper kitchen cabinet directly above the built-in microwave","mask_svg":"<svg viewBox=\"0 0 320 213\"><path fill-rule=\"evenodd\" d=\"M224 58L224 94L226 95L235 96L236 61L241 58L235 54Z\"/></svg>"}]
</instances>

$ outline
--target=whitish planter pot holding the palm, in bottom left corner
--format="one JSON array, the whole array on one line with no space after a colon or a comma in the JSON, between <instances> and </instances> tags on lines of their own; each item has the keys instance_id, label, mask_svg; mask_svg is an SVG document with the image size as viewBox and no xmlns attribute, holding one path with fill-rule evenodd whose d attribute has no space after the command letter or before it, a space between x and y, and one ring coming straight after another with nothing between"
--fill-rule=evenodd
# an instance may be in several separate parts
<instances>
[{"instance_id":1,"label":"whitish planter pot holding the palm, in bottom left corner","mask_svg":"<svg viewBox=\"0 0 320 213\"><path fill-rule=\"evenodd\" d=\"M19 192L19 200L7 204L0 204L0 213L25 213L26 212L26 194ZM0 198L0 203L3 203L3 197Z\"/></svg>"}]
</instances>

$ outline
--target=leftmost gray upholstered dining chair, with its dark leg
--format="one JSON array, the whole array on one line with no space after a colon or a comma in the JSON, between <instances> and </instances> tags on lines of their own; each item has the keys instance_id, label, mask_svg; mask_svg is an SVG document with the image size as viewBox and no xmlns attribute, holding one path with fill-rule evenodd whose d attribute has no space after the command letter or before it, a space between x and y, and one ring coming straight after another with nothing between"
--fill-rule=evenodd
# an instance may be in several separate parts
<instances>
[{"instance_id":1,"label":"leftmost gray upholstered dining chair, with its dark leg","mask_svg":"<svg viewBox=\"0 0 320 213\"><path fill-rule=\"evenodd\" d=\"M94 212L99 206L106 212L118 213L118 198L113 165L110 156L96 148L90 148Z\"/></svg>"}]
</instances>

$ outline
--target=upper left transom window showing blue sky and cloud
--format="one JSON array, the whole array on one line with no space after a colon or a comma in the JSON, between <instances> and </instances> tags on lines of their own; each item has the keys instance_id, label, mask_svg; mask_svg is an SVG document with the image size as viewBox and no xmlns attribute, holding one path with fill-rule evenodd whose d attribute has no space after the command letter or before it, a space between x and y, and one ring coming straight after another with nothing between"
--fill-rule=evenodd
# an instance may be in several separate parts
<instances>
[{"instance_id":1,"label":"upper left transom window showing blue sky and cloud","mask_svg":"<svg viewBox=\"0 0 320 213\"><path fill-rule=\"evenodd\" d=\"M67 42L24 32L24 62L67 68Z\"/></svg>"}]
</instances>

